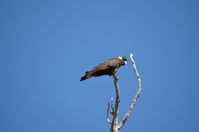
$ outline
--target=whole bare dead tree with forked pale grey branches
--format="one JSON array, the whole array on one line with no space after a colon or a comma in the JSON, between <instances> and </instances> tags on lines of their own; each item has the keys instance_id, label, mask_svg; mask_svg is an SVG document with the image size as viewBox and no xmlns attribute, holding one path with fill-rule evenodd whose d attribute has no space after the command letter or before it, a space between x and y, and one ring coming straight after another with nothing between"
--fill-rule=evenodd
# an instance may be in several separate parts
<instances>
[{"instance_id":1,"label":"whole bare dead tree with forked pale grey branches","mask_svg":"<svg viewBox=\"0 0 199 132\"><path fill-rule=\"evenodd\" d=\"M116 92L116 99L115 99L115 104L113 102L113 98L111 99L110 102L108 102L108 108L107 108L107 122L111 124L110 132L118 132L120 128L126 123L129 115L131 114L133 108L135 107L135 104L137 102L137 99L140 96L140 93L142 91L142 81L140 79L140 75L137 71L136 63L135 60L133 59L133 54L130 53L130 59L133 64L133 69L135 72L135 75L138 80L138 90L132 100L132 103L127 111L127 113L124 115L123 119L121 122L118 122L118 114L119 114L119 103L120 103L120 89L119 89L119 84L118 84L118 76L117 73L114 74L113 79L114 79L114 85L115 85L115 92ZM112 120L109 119L109 115L112 116Z\"/></svg>"}]
</instances>

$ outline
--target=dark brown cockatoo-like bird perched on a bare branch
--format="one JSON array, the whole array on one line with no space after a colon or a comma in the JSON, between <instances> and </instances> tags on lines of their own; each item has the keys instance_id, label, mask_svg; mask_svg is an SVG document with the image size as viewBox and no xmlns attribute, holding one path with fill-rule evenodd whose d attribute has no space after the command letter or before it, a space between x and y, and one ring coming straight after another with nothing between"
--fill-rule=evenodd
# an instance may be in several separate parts
<instances>
[{"instance_id":1,"label":"dark brown cockatoo-like bird perched on a bare branch","mask_svg":"<svg viewBox=\"0 0 199 132\"><path fill-rule=\"evenodd\" d=\"M118 56L111 58L107 61L100 63L98 66L94 67L91 71L85 72L85 75L81 77L80 81L86 80L91 77L98 77L102 75L113 76L117 73L120 66L127 63L127 59L124 56Z\"/></svg>"}]
</instances>

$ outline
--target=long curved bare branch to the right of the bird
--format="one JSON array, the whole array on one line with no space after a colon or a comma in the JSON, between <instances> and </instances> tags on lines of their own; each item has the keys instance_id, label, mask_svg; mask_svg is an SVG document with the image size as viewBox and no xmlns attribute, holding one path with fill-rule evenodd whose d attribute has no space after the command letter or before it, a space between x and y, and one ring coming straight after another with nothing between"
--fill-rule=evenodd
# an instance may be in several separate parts
<instances>
[{"instance_id":1,"label":"long curved bare branch to the right of the bird","mask_svg":"<svg viewBox=\"0 0 199 132\"><path fill-rule=\"evenodd\" d=\"M132 64L133 64L133 68L134 68L134 72L135 72L135 75L137 77L137 80L138 80L138 90L136 92L136 95L134 96L134 99L130 105L130 108L128 109L127 113L125 114L124 118L122 119L122 121L120 122L119 126L118 126L118 129L120 129L127 121L129 115L131 114L133 108L135 107L135 104L137 102L137 99L139 98L140 94L141 94L141 91L142 91L142 81L140 79L140 75L137 71L137 67L136 67L136 63L135 63L135 60L133 59L133 54L130 53L130 59L132 61Z\"/></svg>"}]
</instances>

